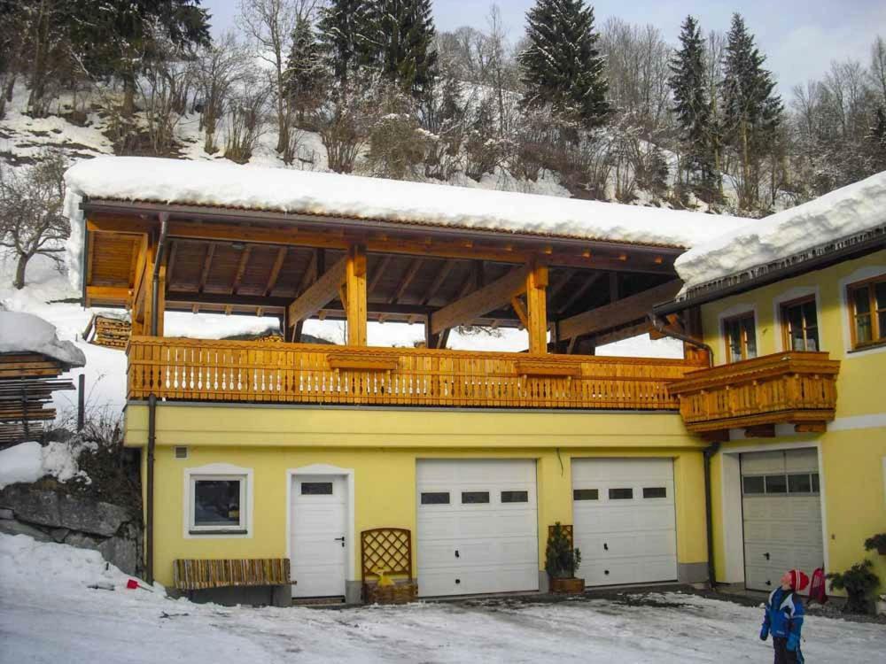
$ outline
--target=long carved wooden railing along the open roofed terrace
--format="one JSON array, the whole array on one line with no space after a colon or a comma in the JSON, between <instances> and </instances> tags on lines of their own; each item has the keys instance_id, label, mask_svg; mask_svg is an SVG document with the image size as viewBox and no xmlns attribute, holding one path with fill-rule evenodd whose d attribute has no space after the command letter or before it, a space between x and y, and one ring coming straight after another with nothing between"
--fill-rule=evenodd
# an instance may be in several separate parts
<instances>
[{"instance_id":1,"label":"long carved wooden railing along the open roofed terrace","mask_svg":"<svg viewBox=\"0 0 886 664\"><path fill-rule=\"evenodd\" d=\"M681 359L134 336L128 398L287 404L677 409Z\"/></svg>"}]
</instances>

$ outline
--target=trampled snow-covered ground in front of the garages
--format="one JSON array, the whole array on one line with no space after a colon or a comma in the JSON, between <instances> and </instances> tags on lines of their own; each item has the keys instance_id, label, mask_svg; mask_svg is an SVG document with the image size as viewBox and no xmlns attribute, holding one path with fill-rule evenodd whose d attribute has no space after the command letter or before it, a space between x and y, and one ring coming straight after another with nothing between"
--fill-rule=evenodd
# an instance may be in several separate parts
<instances>
[{"instance_id":1,"label":"trampled snow-covered ground in front of the garages","mask_svg":"<svg viewBox=\"0 0 886 664\"><path fill-rule=\"evenodd\" d=\"M762 611L663 591L345 610L195 605L127 590L100 554L0 535L0 662L760 662ZM113 591L89 585L113 584ZM657 606L656 606L657 605ZM810 616L808 661L881 661L886 628Z\"/></svg>"}]
</instances>

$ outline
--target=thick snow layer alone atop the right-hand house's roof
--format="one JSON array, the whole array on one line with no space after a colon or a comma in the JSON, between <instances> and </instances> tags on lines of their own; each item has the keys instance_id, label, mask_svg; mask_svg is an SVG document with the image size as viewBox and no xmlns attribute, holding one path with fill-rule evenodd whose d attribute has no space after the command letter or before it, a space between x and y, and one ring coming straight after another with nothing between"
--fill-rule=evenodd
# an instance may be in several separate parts
<instances>
[{"instance_id":1,"label":"thick snow layer alone atop the right-hand house's roof","mask_svg":"<svg viewBox=\"0 0 886 664\"><path fill-rule=\"evenodd\" d=\"M886 172L751 220L698 244L674 265L686 291L878 227L886 227Z\"/></svg>"}]
</instances>

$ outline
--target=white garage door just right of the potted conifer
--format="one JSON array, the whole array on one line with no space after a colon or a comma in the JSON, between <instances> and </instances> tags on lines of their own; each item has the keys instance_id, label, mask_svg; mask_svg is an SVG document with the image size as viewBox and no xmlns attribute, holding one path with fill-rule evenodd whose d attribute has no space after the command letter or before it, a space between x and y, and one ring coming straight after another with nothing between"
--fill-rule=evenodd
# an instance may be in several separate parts
<instances>
[{"instance_id":1,"label":"white garage door just right of the potted conifer","mask_svg":"<svg viewBox=\"0 0 886 664\"><path fill-rule=\"evenodd\" d=\"M587 585L677 578L672 459L572 459L572 523Z\"/></svg>"}]
</instances>

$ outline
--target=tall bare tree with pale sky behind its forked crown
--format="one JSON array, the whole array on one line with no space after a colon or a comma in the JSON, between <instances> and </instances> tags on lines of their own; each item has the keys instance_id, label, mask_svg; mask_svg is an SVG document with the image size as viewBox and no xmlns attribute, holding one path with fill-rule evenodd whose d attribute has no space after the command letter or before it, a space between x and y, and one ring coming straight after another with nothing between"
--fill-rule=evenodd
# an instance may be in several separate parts
<instances>
[{"instance_id":1,"label":"tall bare tree with pale sky behind its forked crown","mask_svg":"<svg viewBox=\"0 0 886 664\"><path fill-rule=\"evenodd\" d=\"M253 46L255 56L271 66L271 91L276 102L276 151L285 155L291 153L293 116L293 104L285 85L286 58L296 25L299 20L310 20L317 6L318 0L240 0L238 25Z\"/></svg>"}]
</instances>

